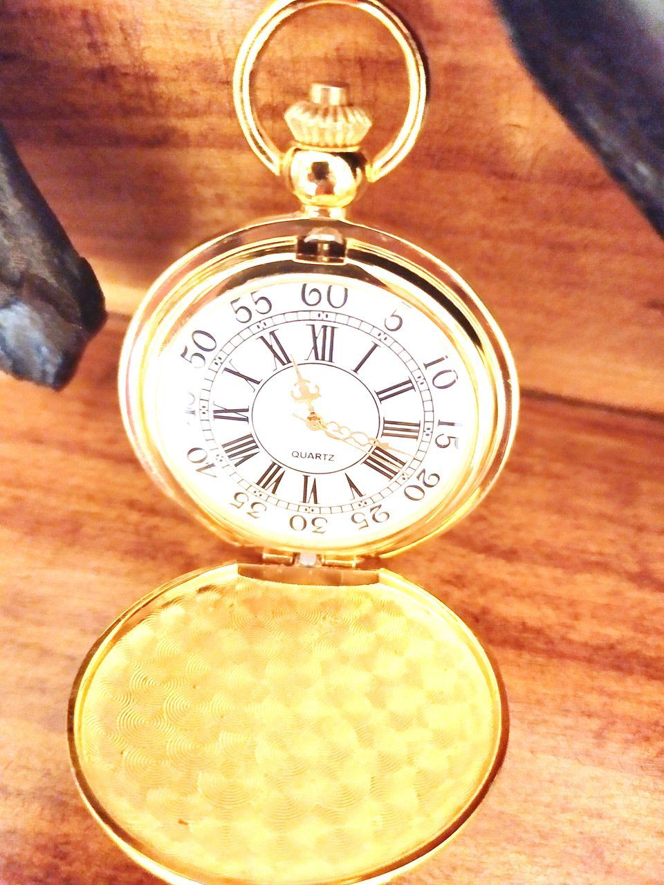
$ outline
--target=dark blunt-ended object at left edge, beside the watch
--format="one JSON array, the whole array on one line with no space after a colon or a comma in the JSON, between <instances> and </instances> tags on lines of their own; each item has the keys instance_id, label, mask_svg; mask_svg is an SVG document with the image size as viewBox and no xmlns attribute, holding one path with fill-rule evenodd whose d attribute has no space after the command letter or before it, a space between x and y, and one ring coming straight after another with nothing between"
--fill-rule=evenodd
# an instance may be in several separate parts
<instances>
[{"instance_id":1,"label":"dark blunt-ended object at left edge, beside the watch","mask_svg":"<svg viewBox=\"0 0 664 885\"><path fill-rule=\"evenodd\" d=\"M97 277L0 127L0 369L59 389L105 318Z\"/></svg>"}]
</instances>

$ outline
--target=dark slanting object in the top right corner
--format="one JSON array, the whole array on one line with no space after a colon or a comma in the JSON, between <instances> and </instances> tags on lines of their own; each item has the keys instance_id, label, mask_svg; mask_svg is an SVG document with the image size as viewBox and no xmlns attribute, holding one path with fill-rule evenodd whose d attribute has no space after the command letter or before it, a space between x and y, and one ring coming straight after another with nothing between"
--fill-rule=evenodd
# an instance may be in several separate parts
<instances>
[{"instance_id":1,"label":"dark slanting object in the top right corner","mask_svg":"<svg viewBox=\"0 0 664 885\"><path fill-rule=\"evenodd\" d=\"M664 235L664 4L495 3L524 65Z\"/></svg>"}]
</instances>

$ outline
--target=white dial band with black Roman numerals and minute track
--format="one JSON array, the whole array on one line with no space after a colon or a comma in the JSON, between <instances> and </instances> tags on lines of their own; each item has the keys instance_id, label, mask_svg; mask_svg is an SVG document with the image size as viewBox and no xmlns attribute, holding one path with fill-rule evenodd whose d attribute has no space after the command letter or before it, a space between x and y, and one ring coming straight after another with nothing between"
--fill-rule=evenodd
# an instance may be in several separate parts
<instances>
[{"instance_id":1,"label":"white dial band with black Roman numerals and minute track","mask_svg":"<svg viewBox=\"0 0 664 885\"><path fill-rule=\"evenodd\" d=\"M234 483L238 483L236 488L243 488L243 484L248 483L249 488L247 491L250 495L257 495L262 500L265 500L269 504L273 504L280 510L284 509L288 512L295 512L297 508L304 506L311 508L311 512L338 513L341 516L343 513L354 512L358 507L379 503L382 500L390 498L394 489L396 489L404 479L407 480L408 477L413 475L413 471L420 469L418 465L422 463L422 458L426 455L430 439L423 437L419 445L417 444L417 440L421 438L423 429L426 429L426 427L432 423L434 416L433 402L429 394L429 385L423 378L422 385L419 383L421 379L421 369L416 362L416 358L413 358L412 356L412 348L409 350L408 347L404 347L401 342L393 339L391 335L385 335L380 327L374 326L374 324L367 319L344 315L339 312L335 312L328 317L327 313L330 312L326 312L326 315L321 315L320 312L314 310L284 311L281 314L276 314L273 317L260 320L255 326L252 324L252 327L245 327L240 330L240 333L233 335L220 349L219 357L223 362L218 362L215 359L214 364L208 366L203 386L202 388L199 388L199 402L201 404L207 404L206 415L205 409L201 409L200 426L204 431L205 437L208 435L206 428L209 428L209 432L212 433L212 438L210 439L210 443L208 443L211 449L214 448L214 446L212 446L212 441L217 443L220 430L223 426L231 429L233 428L232 425L227 423L228 421L235 421L235 427L237 427L238 430L240 430L241 427L246 427L247 430L252 428L252 409L254 399L256 396L260 395L260 390L263 385L274 377L274 373L288 371L288 364L283 365L282 362L284 358L283 354L286 353L288 358L287 351L290 352L290 349L292 349L294 345L297 345L297 338L299 338L301 343L299 348L296 346L296 350L299 350L302 354L300 359L304 357L304 360L300 365L304 366L305 363L307 365L319 364L321 366L327 364L328 366L336 366L339 371L349 374L354 373L355 377L359 375L358 381L362 378L364 379L361 383L373 396L376 406L378 406L379 403L385 403L386 400L391 404L390 400L401 396L401 398L398 399L398 404L403 403L405 408L398 409L398 412L401 412L402 419L384 419L382 414L380 414L378 422L379 426L370 431L371 434L377 435L379 440L383 435L385 436L386 448L382 449L380 444L376 445L374 443L373 450L370 447L367 447L368 454L362 455L358 452L357 454L361 458L364 458L364 460L357 462L358 466L352 469L350 473L346 473L344 467L340 466L336 473L336 485L329 487L325 483L323 484L323 491L328 489L326 491L328 504L319 503L320 484L315 488L315 498L318 498L318 500L314 499L313 479L306 481L306 496L308 497L308 500L300 500L305 497L305 475L309 476L310 474L305 473L305 471L302 471L295 466L290 466L290 462L284 462L276 452L274 455L269 453L269 448L264 450L263 442L268 443L267 437L265 441L261 441L258 445L259 451L262 451L264 456L268 454L268 458L266 458L262 465L257 466L255 470L251 470L250 467L251 476L247 475L245 468L242 466L246 454L251 452L250 457L253 457L255 454L255 446L251 445L251 439L244 441L245 444L250 444L249 452L244 452L243 450L240 458L235 457L235 462L242 462L240 464L239 472L235 471L235 463L233 461L229 458L227 459L223 457L225 454L225 448L228 447L229 444L232 446L233 443L236 443L236 440L231 439L223 444L221 442L217 443L221 450L219 461L220 466L223 466L224 461L226 462L230 471L225 473L225 475L227 475L229 479L233 478L232 481ZM349 350L351 345L357 347L357 350L354 350L351 356L343 351L337 354L338 347L342 344L346 345L347 343L345 337L346 333L342 332L341 335L344 337L339 338L339 335L336 333L337 327L341 327L342 329L348 328L349 334L359 335L357 339L353 338L352 342L348 342ZM290 328L293 331L285 331L285 335L282 335L280 328L284 329L284 331L286 328ZM380 340L377 339L379 332L381 333ZM292 335L295 335L296 337L292 337ZM365 341L364 346L362 346L363 336ZM313 346L314 340L317 348L314 348ZM253 344L252 342L256 343ZM311 350L309 350L309 353L307 354L307 351L303 348L303 344L306 348L310 343ZM336 348L335 345L337 345ZM304 353L302 353L302 350L304 350ZM318 353L316 353L316 350ZM384 355L381 356L381 354ZM317 356L318 359L316 359ZM332 360L343 358L342 362L345 363L345 366L338 365L338 363L333 361L331 362L330 358L332 358ZM391 370L392 378L394 378L395 374L396 377L399 378L398 370L395 368L397 364L403 366L401 370L401 378L403 381L398 381L397 384L390 384L386 387L386 382L390 377L388 374L388 359L394 360ZM267 369L268 365L271 367L271 371ZM328 371L336 370L332 369ZM222 374L227 381L220 386ZM244 402L247 402L247 406L241 405L243 398L239 397L246 396L250 391L247 391L246 388L244 388L243 393L242 388L235 389L235 396L239 393L238 403L238 399L235 398L232 393L234 388L228 386L229 384L237 383L232 381L233 376L238 378L239 381L244 381L251 388L251 396L248 397L249 402L247 399L244 399ZM373 383L371 381L372 376L374 378ZM313 377L314 376L312 375L312 378ZM411 379L414 381L411 381ZM376 380L379 382L378 384L375 383ZM382 389L380 388L381 380L383 384ZM205 390L209 390L209 393L204 392ZM402 394L405 396L413 390L417 396L408 397L408 401L406 401ZM323 390L323 394L324 393L325 391ZM234 399L236 407L233 407ZM230 404L228 403L229 400ZM412 410L415 400L421 402L421 405L418 404L416 407L417 411L413 412ZM418 421L417 419L420 418L419 410L421 409L421 406L423 406L424 411L421 414L421 419ZM383 406L381 406L380 411L382 411L382 408ZM336 414L336 411L334 411L334 413ZM324 412L321 412L321 414L323 418L328 417ZM246 421L245 417L247 418ZM419 435L416 435L418 427L420 427L420 433ZM280 423L277 420L274 424L274 433L278 434L279 432ZM254 435L254 433L256 433L256 431L252 430L251 435ZM387 447L388 438L390 436L402 436L404 439L412 440L414 443L413 448L415 449L413 454L406 457L405 455L400 455L396 451L390 452L390 449ZM254 439L257 439L257 437L258 440L262 440L258 433L254 436ZM242 439L242 435L237 435L237 440ZM313 439L314 438L312 437L312 442ZM398 439L394 439L394 442L398 444ZM377 450L382 450L382 452L386 452L389 455L394 455L395 458L398 458L398 462L395 464L390 458L388 458L387 463L385 463L381 452ZM263 467L267 466L268 460L271 461L272 458L276 458L276 460L272 461L266 470L263 470ZM402 458L404 459L403 461ZM254 462L251 461L251 463ZM256 463L258 464L258 462ZM361 465L363 463L367 463L370 468L366 472L366 475L361 472ZM377 467L374 466L376 464L383 469L377 469ZM290 474L291 471L295 471L292 477L287 475ZM374 480L369 479L369 474L371 474L372 471L374 472ZM315 476L316 474L314 473L313 475ZM257 476L258 481L256 479ZM285 481L283 479L284 476L286 478ZM386 480L384 486L378 484L378 477L384 477ZM240 483L242 483L242 485L240 485ZM298 484L299 488L297 488ZM376 488L377 486L378 488ZM251 488L254 489L253 492L251 492ZM334 491L332 488L334 488ZM286 496L286 499L284 499L284 495ZM330 496L332 497L332 501L329 501ZM360 504L360 502L362 503ZM367 504L365 504L365 502Z\"/></svg>"}]
</instances>

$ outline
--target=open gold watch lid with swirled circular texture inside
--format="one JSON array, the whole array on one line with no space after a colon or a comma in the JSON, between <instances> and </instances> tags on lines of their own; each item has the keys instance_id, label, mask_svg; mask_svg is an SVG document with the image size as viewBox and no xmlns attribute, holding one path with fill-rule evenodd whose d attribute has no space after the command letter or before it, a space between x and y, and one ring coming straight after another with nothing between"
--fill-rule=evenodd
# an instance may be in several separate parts
<instances>
[{"instance_id":1,"label":"open gold watch lid with swirled circular texture inside","mask_svg":"<svg viewBox=\"0 0 664 885\"><path fill-rule=\"evenodd\" d=\"M498 772L505 696L459 618L384 570L312 572L184 576L81 667L81 793L173 885L386 881L441 847Z\"/></svg>"}]
</instances>

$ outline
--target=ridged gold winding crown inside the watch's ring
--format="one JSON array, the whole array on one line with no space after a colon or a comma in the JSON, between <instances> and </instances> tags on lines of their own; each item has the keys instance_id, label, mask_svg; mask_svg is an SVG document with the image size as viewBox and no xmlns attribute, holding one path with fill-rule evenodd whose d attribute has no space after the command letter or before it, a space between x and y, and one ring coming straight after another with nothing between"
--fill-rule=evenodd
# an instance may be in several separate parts
<instances>
[{"instance_id":1,"label":"ridged gold winding crown inside the watch's ring","mask_svg":"<svg viewBox=\"0 0 664 885\"><path fill-rule=\"evenodd\" d=\"M367 112L348 104L340 84L313 83L309 99L291 104L284 117L297 144L307 148L356 148L371 128Z\"/></svg>"}]
</instances>

